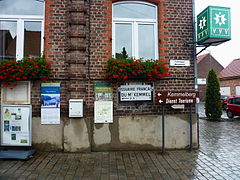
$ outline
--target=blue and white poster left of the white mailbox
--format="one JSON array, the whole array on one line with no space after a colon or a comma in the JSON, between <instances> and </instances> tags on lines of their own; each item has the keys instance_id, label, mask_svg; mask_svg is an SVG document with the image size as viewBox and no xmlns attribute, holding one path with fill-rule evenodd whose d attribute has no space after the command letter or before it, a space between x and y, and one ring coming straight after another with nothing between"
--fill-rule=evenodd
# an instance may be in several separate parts
<instances>
[{"instance_id":1,"label":"blue and white poster left of the white mailbox","mask_svg":"<svg viewBox=\"0 0 240 180\"><path fill-rule=\"evenodd\" d=\"M60 83L42 83L41 124L60 124Z\"/></svg>"}]
</instances>

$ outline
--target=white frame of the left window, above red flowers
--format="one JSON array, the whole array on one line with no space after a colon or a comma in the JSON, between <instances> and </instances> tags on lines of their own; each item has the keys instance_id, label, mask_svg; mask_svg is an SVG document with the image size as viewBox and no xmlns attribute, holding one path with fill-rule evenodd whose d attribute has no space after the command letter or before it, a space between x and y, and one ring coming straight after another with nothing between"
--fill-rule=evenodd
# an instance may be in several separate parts
<instances>
[{"instance_id":1,"label":"white frame of the left window, above red flowers","mask_svg":"<svg viewBox=\"0 0 240 180\"><path fill-rule=\"evenodd\" d=\"M45 6L44 6L45 7ZM45 8L44 8L45 9ZM41 22L41 54L44 47L44 16L35 15L0 15L0 21L17 22L17 42L16 42L16 59L20 60L24 56L24 22Z\"/></svg>"}]
</instances>

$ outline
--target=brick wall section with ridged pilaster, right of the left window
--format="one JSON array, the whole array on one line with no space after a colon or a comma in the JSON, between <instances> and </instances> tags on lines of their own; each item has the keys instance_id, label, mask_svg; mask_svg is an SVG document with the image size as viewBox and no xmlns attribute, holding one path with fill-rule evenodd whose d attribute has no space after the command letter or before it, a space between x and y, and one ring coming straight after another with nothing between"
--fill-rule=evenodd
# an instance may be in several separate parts
<instances>
[{"instance_id":1,"label":"brick wall section with ridged pilaster, right of the left window","mask_svg":"<svg viewBox=\"0 0 240 180\"><path fill-rule=\"evenodd\" d=\"M45 8L44 54L52 64L48 82L61 83L61 116L68 115L68 100L88 102L89 23L88 3L84 0L47 0ZM32 97L39 114L40 84ZM38 95L36 98L35 96Z\"/></svg>"}]
</instances>

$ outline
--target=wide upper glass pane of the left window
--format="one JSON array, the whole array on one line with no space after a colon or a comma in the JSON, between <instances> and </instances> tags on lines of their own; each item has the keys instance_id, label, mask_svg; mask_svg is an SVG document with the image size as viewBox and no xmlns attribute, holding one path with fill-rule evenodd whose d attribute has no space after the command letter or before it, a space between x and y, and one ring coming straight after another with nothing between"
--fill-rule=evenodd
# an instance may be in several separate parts
<instances>
[{"instance_id":1,"label":"wide upper glass pane of the left window","mask_svg":"<svg viewBox=\"0 0 240 180\"><path fill-rule=\"evenodd\" d=\"M43 15L44 0L1 0L0 14Z\"/></svg>"}]
</instances>

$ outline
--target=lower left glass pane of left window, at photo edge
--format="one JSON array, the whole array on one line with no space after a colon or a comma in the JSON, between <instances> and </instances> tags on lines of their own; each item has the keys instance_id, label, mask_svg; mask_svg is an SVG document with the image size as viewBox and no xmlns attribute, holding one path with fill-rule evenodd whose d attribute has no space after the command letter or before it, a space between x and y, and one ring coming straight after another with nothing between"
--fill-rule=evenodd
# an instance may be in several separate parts
<instances>
[{"instance_id":1,"label":"lower left glass pane of left window, at photo edge","mask_svg":"<svg viewBox=\"0 0 240 180\"><path fill-rule=\"evenodd\" d=\"M17 22L0 21L0 59L16 57Z\"/></svg>"}]
</instances>

